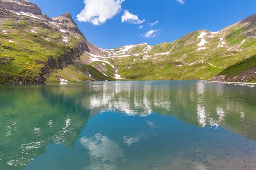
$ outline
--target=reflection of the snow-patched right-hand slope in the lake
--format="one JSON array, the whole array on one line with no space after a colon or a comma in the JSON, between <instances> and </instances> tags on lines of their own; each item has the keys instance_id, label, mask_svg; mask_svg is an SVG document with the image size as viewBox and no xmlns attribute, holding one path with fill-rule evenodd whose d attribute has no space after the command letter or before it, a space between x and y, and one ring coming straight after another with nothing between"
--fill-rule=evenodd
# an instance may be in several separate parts
<instances>
[{"instance_id":1,"label":"reflection of the snow-patched right-hand slope in the lake","mask_svg":"<svg viewBox=\"0 0 256 170\"><path fill-rule=\"evenodd\" d=\"M222 125L256 139L251 128L256 120L256 92L232 88L201 82L92 84L89 102L82 105L92 109L92 113L112 109L128 116L173 115L192 125Z\"/></svg>"}]
</instances>

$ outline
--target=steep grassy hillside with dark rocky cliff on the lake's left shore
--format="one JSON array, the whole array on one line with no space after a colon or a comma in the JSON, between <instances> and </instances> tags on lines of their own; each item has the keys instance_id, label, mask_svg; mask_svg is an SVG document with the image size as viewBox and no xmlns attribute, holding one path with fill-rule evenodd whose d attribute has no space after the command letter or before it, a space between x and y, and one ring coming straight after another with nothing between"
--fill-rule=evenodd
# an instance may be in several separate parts
<instances>
[{"instance_id":1,"label":"steep grassy hillside with dark rocky cliff on the lake's left shore","mask_svg":"<svg viewBox=\"0 0 256 170\"><path fill-rule=\"evenodd\" d=\"M72 18L50 23L3 9L0 18L0 83L111 80L76 63L87 45Z\"/></svg>"}]
</instances>

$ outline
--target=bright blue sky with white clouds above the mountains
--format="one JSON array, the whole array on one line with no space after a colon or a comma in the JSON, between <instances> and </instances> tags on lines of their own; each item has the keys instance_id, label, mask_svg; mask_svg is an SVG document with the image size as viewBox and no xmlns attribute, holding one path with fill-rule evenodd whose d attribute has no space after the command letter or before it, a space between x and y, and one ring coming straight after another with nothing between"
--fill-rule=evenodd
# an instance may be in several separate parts
<instances>
[{"instance_id":1,"label":"bright blue sky with white clouds above the mountains","mask_svg":"<svg viewBox=\"0 0 256 170\"><path fill-rule=\"evenodd\" d=\"M256 13L256 0L29 1L49 17L70 12L87 40L105 49L172 42L200 29L219 31Z\"/></svg>"}]
</instances>

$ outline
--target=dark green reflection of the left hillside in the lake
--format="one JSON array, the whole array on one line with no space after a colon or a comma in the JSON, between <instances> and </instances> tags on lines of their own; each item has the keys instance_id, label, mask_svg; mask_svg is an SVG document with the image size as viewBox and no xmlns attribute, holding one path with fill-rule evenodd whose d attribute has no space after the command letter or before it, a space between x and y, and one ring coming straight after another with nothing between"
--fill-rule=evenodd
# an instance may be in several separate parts
<instances>
[{"instance_id":1,"label":"dark green reflection of the left hillside in the lake","mask_svg":"<svg viewBox=\"0 0 256 170\"><path fill-rule=\"evenodd\" d=\"M24 167L49 144L74 146L90 110L61 87L14 87L0 99L0 169Z\"/></svg>"}]
</instances>

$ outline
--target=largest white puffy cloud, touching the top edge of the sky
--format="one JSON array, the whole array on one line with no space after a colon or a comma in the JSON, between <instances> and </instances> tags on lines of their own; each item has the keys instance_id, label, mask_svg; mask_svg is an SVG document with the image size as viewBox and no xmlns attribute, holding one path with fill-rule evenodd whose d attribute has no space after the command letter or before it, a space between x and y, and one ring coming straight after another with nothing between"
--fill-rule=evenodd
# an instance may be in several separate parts
<instances>
[{"instance_id":1,"label":"largest white puffy cloud, touching the top edge of the sky","mask_svg":"<svg viewBox=\"0 0 256 170\"><path fill-rule=\"evenodd\" d=\"M77 20L99 26L121 10L123 1L125 0L84 0L85 7L76 16Z\"/></svg>"}]
</instances>

